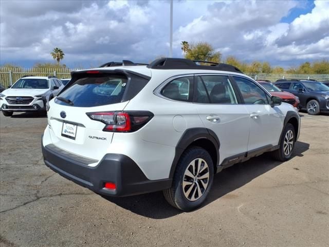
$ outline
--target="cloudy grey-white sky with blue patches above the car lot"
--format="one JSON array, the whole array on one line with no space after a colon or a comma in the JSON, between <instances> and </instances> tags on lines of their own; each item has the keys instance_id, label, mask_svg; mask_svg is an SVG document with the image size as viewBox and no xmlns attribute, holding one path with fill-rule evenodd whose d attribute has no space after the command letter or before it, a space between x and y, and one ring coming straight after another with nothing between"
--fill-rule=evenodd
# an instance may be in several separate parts
<instances>
[{"instance_id":1,"label":"cloudy grey-white sky with blue patches above the car lot","mask_svg":"<svg viewBox=\"0 0 329 247\"><path fill-rule=\"evenodd\" d=\"M70 67L169 56L168 1L0 2L0 63ZM250 62L289 67L329 59L329 1L174 1L173 55L181 41L206 41Z\"/></svg>"}]
</instances>

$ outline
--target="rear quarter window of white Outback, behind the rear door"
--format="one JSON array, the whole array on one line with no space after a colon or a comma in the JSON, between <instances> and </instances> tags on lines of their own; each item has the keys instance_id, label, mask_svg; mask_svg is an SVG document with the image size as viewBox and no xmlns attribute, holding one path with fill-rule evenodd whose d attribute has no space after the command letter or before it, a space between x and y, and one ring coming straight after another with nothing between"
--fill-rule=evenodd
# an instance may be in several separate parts
<instances>
[{"instance_id":1,"label":"rear quarter window of white Outback, behind the rear door","mask_svg":"<svg viewBox=\"0 0 329 247\"><path fill-rule=\"evenodd\" d=\"M161 90L161 95L178 101L191 101L193 76L180 77L169 82Z\"/></svg>"}]
</instances>

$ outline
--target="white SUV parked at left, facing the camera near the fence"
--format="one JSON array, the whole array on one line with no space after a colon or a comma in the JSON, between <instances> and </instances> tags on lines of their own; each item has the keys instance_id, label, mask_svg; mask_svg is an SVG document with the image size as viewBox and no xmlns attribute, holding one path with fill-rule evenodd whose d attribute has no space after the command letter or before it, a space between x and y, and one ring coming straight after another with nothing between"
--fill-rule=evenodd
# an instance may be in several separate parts
<instances>
[{"instance_id":1,"label":"white SUV parked at left, facing the camera near the fence","mask_svg":"<svg viewBox=\"0 0 329 247\"><path fill-rule=\"evenodd\" d=\"M6 117L13 112L46 111L47 102L64 85L53 76L24 76L0 94L0 107Z\"/></svg>"}]
</instances>

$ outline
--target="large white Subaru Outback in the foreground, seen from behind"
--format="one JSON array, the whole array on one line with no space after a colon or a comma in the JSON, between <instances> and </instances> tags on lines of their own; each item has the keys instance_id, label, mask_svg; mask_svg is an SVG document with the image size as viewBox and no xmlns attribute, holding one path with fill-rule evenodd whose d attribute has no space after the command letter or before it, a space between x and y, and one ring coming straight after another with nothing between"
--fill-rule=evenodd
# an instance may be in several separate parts
<instances>
[{"instance_id":1,"label":"large white Subaru Outback in the foreground, seen from behind","mask_svg":"<svg viewBox=\"0 0 329 247\"><path fill-rule=\"evenodd\" d=\"M107 65L72 72L49 103L42 151L63 177L106 196L163 190L188 211L223 168L268 151L290 158L298 113L236 67L174 58Z\"/></svg>"}]
</instances>

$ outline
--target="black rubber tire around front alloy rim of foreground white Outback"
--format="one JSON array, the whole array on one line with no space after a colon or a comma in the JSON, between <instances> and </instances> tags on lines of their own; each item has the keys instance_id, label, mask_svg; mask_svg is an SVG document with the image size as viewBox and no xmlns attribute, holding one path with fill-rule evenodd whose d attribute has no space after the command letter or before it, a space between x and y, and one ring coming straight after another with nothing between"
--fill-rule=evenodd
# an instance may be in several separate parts
<instances>
[{"instance_id":1,"label":"black rubber tire around front alloy rim of foreground white Outback","mask_svg":"<svg viewBox=\"0 0 329 247\"><path fill-rule=\"evenodd\" d=\"M286 140L287 140L287 133L291 131L293 133L293 143L292 146L290 147L290 151L286 150ZM291 133L290 132L290 133ZM280 140L280 148L272 151L272 156L275 160L277 161L287 161L291 157L291 154L293 153L294 147L295 147L295 142L296 142L296 133L295 133L295 128L291 123L287 123L286 127L284 128L282 139ZM289 144L287 144L289 145ZM287 151L285 153L285 150Z\"/></svg>"}]
</instances>

